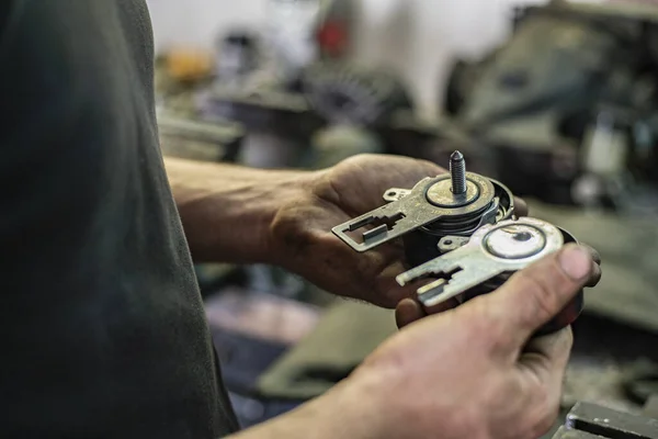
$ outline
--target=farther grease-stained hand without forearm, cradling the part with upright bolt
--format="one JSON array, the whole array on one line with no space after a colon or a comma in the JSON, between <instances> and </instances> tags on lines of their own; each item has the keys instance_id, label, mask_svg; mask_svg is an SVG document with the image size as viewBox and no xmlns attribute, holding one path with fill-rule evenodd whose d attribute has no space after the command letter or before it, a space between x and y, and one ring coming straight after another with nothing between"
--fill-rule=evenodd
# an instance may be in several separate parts
<instances>
[{"instance_id":1,"label":"farther grease-stained hand without forearm, cradling the part with upright bolt","mask_svg":"<svg viewBox=\"0 0 658 439\"><path fill-rule=\"evenodd\" d=\"M382 206L387 189L410 189L421 179L443 172L430 161L361 155L316 173L305 191L274 217L270 245L273 262L336 294L395 307L413 292L395 282L405 271L401 246L387 244L358 254L331 228ZM524 214L524 204L519 206Z\"/></svg>"}]
</instances>

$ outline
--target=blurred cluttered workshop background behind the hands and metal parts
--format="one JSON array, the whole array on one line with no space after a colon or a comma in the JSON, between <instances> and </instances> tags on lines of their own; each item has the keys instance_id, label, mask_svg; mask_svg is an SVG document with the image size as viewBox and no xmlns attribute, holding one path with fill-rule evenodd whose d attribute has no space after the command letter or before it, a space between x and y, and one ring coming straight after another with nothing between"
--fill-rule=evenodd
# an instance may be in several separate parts
<instances>
[{"instance_id":1,"label":"blurred cluttered workshop background behind the hands and metal parts","mask_svg":"<svg viewBox=\"0 0 658 439\"><path fill-rule=\"evenodd\" d=\"M658 2L149 7L164 154L317 169L360 153L447 166L458 148L602 255L565 413L585 401L658 418ZM196 269L245 426L321 394L396 330L389 311L281 269Z\"/></svg>"}]
</instances>

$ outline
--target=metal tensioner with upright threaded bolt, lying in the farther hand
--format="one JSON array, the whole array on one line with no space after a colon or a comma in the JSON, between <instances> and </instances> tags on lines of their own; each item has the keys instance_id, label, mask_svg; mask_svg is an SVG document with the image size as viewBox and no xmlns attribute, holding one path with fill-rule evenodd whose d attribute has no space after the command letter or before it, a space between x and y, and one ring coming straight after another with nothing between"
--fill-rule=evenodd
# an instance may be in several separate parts
<instances>
[{"instance_id":1,"label":"metal tensioner with upright threaded bolt, lying in the farther hand","mask_svg":"<svg viewBox=\"0 0 658 439\"><path fill-rule=\"evenodd\" d=\"M388 203L332 232L356 251L401 237L410 266L453 250L483 225L514 213L512 193L496 180L467 172L460 151L451 158L451 173L426 178L411 190L390 188L384 200ZM455 238L442 241L446 236Z\"/></svg>"}]
</instances>

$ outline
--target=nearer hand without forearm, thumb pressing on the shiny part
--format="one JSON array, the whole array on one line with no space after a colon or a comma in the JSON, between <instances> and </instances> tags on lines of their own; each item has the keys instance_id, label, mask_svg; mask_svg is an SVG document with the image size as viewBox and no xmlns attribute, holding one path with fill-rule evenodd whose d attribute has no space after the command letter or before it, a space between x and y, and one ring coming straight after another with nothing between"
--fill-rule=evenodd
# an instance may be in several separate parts
<instances>
[{"instance_id":1,"label":"nearer hand without forearm, thumb pressing on the shiny part","mask_svg":"<svg viewBox=\"0 0 658 439\"><path fill-rule=\"evenodd\" d=\"M592 269L587 249L566 246L498 291L409 325L382 346L361 373L387 370L389 401L404 401L401 412L390 410L398 437L525 439L548 430L571 333L529 338L588 283Z\"/></svg>"}]
</instances>

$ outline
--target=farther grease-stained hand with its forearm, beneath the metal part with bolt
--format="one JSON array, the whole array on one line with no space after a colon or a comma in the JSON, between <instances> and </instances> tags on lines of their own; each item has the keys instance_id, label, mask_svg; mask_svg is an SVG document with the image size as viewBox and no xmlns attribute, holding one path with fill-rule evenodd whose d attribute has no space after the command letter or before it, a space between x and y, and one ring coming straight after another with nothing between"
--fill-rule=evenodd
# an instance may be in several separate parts
<instances>
[{"instance_id":1,"label":"farther grease-stained hand with its forearm, beneath the metal part with bolt","mask_svg":"<svg viewBox=\"0 0 658 439\"><path fill-rule=\"evenodd\" d=\"M331 228L377 209L389 188L445 172L406 157L361 155L320 171L261 170L168 158L167 172L195 261L283 266L332 293L395 307L413 288L400 244L359 254ZM517 214L526 213L515 201Z\"/></svg>"}]
</instances>

